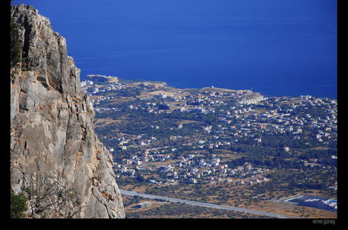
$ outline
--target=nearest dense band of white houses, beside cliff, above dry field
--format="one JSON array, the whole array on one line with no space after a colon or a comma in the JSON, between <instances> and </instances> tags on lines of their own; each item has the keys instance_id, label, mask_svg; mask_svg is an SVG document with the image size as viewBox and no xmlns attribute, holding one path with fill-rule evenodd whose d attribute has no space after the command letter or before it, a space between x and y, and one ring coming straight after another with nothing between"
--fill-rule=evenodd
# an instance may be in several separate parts
<instances>
[{"instance_id":1,"label":"nearest dense band of white houses, beside cliff, above dry field","mask_svg":"<svg viewBox=\"0 0 348 230\"><path fill-rule=\"evenodd\" d=\"M168 163L168 160L172 163ZM153 164L154 162L163 162L163 164ZM252 167L248 162L230 169L228 164L221 162L216 155L212 155L209 160L204 155L196 154L173 158L170 154L154 154L149 151L145 151L142 155L132 154L129 158L123 158L115 163L114 170L116 177L134 176L137 170L161 175L157 181L150 181L156 184L171 180L176 183L229 182L235 185L268 181L264 176L255 176L269 171L269 169Z\"/></svg>"}]
</instances>

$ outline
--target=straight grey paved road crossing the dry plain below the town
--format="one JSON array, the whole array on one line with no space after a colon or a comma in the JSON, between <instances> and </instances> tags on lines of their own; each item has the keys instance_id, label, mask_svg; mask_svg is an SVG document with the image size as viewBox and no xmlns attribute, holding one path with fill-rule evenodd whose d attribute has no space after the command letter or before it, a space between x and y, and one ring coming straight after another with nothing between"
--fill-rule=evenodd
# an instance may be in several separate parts
<instances>
[{"instance_id":1,"label":"straight grey paved road crossing the dry plain below the town","mask_svg":"<svg viewBox=\"0 0 348 230\"><path fill-rule=\"evenodd\" d=\"M184 203L184 204L190 204L194 206L201 206L201 207L207 207L207 208L218 208L218 209L224 209L224 210L234 210L234 211L239 211L239 212L244 212L244 213L251 213L255 215L264 215L264 216L269 216L269 217L276 217L276 218L301 218L301 217L295 217L292 215L281 215L277 213L267 213L267 212L262 212L259 210L252 210L248 208L237 208L237 207L232 207L232 206L223 206L219 204L209 204L209 203L204 203L204 202L198 202L198 201L188 201L185 199L177 199L177 198L170 198L170 197L160 197L156 195L151 195L151 194L143 194L143 193L138 193L138 192L132 192L132 191L126 191L126 190L120 190L121 194L126 195L126 196L139 196L139 197L144 197L148 199L163 199L166 201L171 201L175 203Z\"/></svg>"}]
</instances>

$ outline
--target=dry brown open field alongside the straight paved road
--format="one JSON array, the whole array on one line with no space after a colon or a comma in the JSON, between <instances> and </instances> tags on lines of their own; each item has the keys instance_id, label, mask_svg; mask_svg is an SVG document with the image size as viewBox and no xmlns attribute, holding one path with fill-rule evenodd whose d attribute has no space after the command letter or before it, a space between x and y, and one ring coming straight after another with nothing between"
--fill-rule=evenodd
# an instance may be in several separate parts
<instances>
[{"instance_id":1,"label":"dry brown open field alongside the straight paved road","mask_svg":"<svg viewBox=\"0 0 348 230\"><path fill-rule=\"evenodd\" d=\"M123 190L132 190L134 192L146 193L149 187L171 187L172 185L142 185L141 187L132 188L131 186L121 187ZM200 190L212 190L213 187L219 187L219 192L206 194L197 197L196 185L186 184L175 186L173 192L169 190L165 192L166 197L175 197L180 199L196 200L209 202L211 204L223 204L225 206L237 206L239 208L248 208L252 210L260 210L269 213L278 213L280 215L293 215L303 218L337 218L337 213L330 210L322 210L306 206L297 206L293 204L279 204L274 199L251 199L251 192L248 192L248 185L230 186L221 184L201 185ZM243 191L243 192L242 192ZM242 193L241 193L242 192ZM289 197L278 192L278 197ZM140 215L140 213L139 213ZM198 216L197 216L198 217Z\"/></svg>"}]
</instances>

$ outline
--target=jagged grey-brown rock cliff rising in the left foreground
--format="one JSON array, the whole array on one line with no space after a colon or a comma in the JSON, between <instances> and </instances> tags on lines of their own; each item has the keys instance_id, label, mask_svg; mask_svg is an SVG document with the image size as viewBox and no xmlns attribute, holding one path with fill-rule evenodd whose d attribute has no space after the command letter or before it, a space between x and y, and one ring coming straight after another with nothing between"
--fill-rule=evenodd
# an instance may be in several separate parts
<instances>
[{"instance_id":1,"label":"jagged grey-brown rock cliff rising in the left foreground","mask_svg":"<svg viewBox=\"0 0 348 230\"><path fill-rule=\"evenodd\" d=\"M65 38L32 6L11 6L22 61L11 67L10 183L28 217L123 218L111 153Z\"/></svg>"}]
</instances>

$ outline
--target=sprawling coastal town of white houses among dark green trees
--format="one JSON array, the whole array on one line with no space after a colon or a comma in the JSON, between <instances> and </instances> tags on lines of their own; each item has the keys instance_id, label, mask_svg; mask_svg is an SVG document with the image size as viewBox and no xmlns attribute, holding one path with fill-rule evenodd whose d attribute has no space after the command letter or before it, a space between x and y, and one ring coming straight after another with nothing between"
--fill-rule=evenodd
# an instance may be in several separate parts
<instances>
[{"instance_id":1,"label":"sprawling coastal town of white houses among dark green trees","mask_svg":"<svg viewBox=\"0 0 348 230\"><path fill-rule=\"evenodd\" d=\"M289 190L310 184L335 196L337 100L164 82L82 84L121 187L267 186L278 169L322 170L329 181L303 178Z\"/></svg>"}]
</instances>

